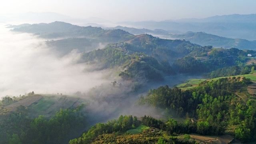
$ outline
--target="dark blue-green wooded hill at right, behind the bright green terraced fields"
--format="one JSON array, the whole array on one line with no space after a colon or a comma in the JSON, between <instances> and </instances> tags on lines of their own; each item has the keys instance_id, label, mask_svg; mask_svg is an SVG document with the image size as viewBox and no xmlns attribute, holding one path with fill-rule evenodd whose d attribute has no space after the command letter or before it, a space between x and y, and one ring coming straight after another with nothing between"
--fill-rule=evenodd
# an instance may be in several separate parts
<instances>
[{"instance_id":1,"label":"dark blue-green wooded hill at right, behind the bright green terraced fields","mask_svg":"<svg viewBox=\"0 0 256 144\"><path fill-rule=\"evenodd\" d=\"M250 52L255 53L254 51ZM207 56L207 58L201 60L200 58L195 58L195 56ZM212 48L212 46L204 46L202 48L194 48L188 56L182 59L178 58L174 61L172 67L179 73L198 74L227 66L242 66L247 59L246 52L237 48L218 50Z\"/></svg>"}]
</instances>

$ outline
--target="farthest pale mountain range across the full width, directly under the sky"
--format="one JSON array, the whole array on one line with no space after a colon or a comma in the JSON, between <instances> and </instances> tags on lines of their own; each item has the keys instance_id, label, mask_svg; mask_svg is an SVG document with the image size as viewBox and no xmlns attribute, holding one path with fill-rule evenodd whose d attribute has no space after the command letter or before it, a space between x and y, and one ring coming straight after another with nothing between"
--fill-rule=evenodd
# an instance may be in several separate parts
<instances>
[{"instance_id":1,"label":"farthest pale mountain range across the full width, directly under the sky","mask_svg":"<svg viewBox=\"0 0 256 144\"><path fill-rule=\"evenodd\" d=\"M188 31L205 32L227 38L256 40L256 14L232 14L212 16L202 19L188 18L180 20L164 20L160 22L150 20L117 23L113 23L101 18L72 18L70 16L65 16L54 12L27 12L13 16L0 15L0 22L3 23L50 23L54 21L69 22L81 26L91 25L97 27L113 27L120 25L133 28L146 28L150 30L162 29L174 34L183 34Z\"/></svg>"}]
</instances>

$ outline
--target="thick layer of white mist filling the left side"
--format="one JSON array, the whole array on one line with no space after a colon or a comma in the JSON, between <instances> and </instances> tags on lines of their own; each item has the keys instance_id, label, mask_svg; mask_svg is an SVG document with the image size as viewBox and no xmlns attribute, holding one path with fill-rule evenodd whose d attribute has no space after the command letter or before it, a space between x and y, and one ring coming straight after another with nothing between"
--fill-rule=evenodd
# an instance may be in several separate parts
<instances>
[{"instance_id":1,"label":"thick layer of white mist filling the left side","mask_svg":"<svg viewBox=\"0 0 256 144\"><path fill-rule=\"evenodd\" d=\"M44 41L0 24L0 98L32 91L73 94L110 83L106 70L83 72L86 64L76 63L80 56L76 50L60 58Z\"/></svg>"}]
</instances>

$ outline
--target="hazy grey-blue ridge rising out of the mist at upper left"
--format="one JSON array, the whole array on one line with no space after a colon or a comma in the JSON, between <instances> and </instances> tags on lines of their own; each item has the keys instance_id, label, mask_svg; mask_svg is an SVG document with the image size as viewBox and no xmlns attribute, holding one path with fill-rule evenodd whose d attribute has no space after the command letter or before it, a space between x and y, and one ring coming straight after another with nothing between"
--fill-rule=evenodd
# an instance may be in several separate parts
<instances>
[{"instance_id":1,"label":"hazy grey-blue ridge rising out of the mist at upper left","mask_svg":"<svg viewBox=\"0 0 256 144\"><path fill-rule=\"evenodd\" d=\"M132 34L124 30L103 30L99 27L76 26L66 22L52 22L40 24L21 24L9 26L15 32L28 32L38 35L40 38L102 38L106 42L118 42L129 40ZM127 36L127 38L125 38ZM124 39L122 39L124 38Z\"/></svg>"}]
</instances>

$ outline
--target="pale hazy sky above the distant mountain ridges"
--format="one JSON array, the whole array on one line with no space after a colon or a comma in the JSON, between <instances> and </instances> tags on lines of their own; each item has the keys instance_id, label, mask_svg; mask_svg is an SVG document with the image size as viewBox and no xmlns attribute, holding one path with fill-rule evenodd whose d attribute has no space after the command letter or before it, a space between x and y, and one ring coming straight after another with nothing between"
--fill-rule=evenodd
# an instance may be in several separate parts
<instances>
[{"instance_id":1,"label":"pale hazy sky above the distant mountain ridges","mask_svg":"<svg viewBox=\"0 0 256 144\"><path fill-rule=\"evenodd\" d=\"M119 22L255 14L255 8L255 0L5 0L0 14L56 12Z\"/></svg>"}]
</instances>

